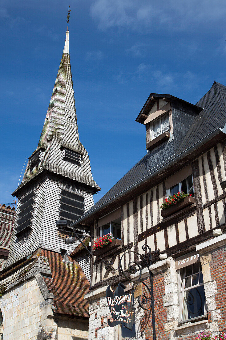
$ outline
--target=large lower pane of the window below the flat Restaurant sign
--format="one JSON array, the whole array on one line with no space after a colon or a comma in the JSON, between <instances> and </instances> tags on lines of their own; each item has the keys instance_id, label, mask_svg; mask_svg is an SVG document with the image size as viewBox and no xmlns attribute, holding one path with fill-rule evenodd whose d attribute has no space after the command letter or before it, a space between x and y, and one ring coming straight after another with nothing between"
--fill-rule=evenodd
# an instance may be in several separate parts
<instances>
[{"instance_id":1,"label":"large lower pane of the window below the flat Restaurant sign","mask_svg":"<svg viewBox=\"0 0 226 340\"><path fill-rule=\"evenodd\" d=\"M203 286L185 291L182 321L202 316L204 314L204 305L205 293Z\"/></svg>"}]
</instances>

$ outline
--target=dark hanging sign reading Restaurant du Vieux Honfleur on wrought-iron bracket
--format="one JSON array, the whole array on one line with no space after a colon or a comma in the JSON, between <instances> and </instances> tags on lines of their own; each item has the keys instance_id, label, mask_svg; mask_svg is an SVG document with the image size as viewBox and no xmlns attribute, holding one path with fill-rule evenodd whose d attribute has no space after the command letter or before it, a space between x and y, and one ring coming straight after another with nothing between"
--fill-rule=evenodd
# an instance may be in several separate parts
<instances>
[{"instance_id":1,"label":"dark hanging sign reading Restaurant du Vieux Honfleur on wrought-iron bracket","mask_svg":"<svg viewBox=\"0 0 226 340\"><path fill-rule=\"evenodd\" d=\"M126 286L119 283L116 290L113 292L108 286L106 289L107 304L113 321L108 319L108 325L114 327L120 323L125 324L125 327L132 330L135 319L133 307L133 294L131 291L126 291Z\"/></svg>"}]
</instances>

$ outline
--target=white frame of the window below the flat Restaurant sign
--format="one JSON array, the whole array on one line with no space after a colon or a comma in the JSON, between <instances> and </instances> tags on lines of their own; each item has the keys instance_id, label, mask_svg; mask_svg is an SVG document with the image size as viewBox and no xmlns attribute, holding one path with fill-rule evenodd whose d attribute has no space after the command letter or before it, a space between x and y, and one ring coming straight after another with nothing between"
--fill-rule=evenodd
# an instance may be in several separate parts
<instances>
[{"instance_id":1,"label":"white frame of the window below the flat Restaurant sign","mask_svg":"<svg viewBox=\"0 0 226 340\"><path fill-rule=\"evenodd\" d=\"M199 270L199 277L200 277L200 273L202 273L202 265L200 263L200 261L198 262L200 265L200 270ZM183 325L183 324L187 324L187 323L192 323L192 321L197 321L197 320L201 320L201 319L205 319L207 317L207 306L206 306L206 296L205 296L205 301L204 301L204 314L198 317L194 317L191 319L186 319L186 320L182 320L182 316L183 316L183 306L184 306L184 294L186 291L190 290L190 289L194 289L197 287L201 287L204 286L204 282L202 283L198 283L197 285L192 286L192 280L193 280L193 267L194 264L190 265L192 266L192 272L191 275L186 276L186 270L184 270L183 273L183 282L181 280L181 269L185 269L186 267L183 267L181 269L177 270L177 275L178 275L178 285L179 285L179 321L178 321L178 325ZM196 274L196 273L195 273ZM190 277L191 276L191 285L187 288L185 288L185 278L186 277Z\"/></svg>"}]
</instances>

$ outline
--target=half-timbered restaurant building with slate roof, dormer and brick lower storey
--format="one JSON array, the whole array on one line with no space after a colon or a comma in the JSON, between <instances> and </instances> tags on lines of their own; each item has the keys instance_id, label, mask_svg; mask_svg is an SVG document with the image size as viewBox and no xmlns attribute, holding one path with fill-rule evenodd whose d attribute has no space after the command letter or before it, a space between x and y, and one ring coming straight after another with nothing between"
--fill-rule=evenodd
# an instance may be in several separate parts
<instances>
[{"instance_id":1,"label":"half-timbered restaurant building with slate roof, dormer and brick lower storey","mask_svg":"<svg viewBox=\"0 0 226 340\"><path fill-rule=\"evenodd\" d=\"M91 257L89 340L153 338L150 310L137 299L150 298L145 285L133 286L132 330L107 322L106 288L128 284L126 276L136 280L131 263L140 263L144 244L153 251L156 339L192 340L226 328L225 98L226 87L217 82L196 105L150 94L136 119L146 128L145 156L76 221L90 227L92 247L103 235L115 238L94 252L102 259ZM186 197L173 204L178 192ZM171 206L161 209L169 197ZM147 270L142 279L150 284Z\"/></svg>"}]
</instances>

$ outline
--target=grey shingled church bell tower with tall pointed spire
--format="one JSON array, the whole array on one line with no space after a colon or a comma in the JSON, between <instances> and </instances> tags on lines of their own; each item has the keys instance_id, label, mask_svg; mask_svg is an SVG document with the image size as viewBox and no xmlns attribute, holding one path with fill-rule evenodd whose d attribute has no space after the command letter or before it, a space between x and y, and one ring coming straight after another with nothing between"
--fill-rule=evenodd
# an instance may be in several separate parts
<instances>
[{"instance_id":1,"label":"grey shingled church bell tower with tall pointed spire","mask_svg":"<svg viewBox=\"0 0 226 340\"><path fill-rule=\"evenodd\" d=\"M56 221L66 220L67 225L76 221L93 206L93 195L99 190L88 153L79 140L67 29L39 143L13 192L18 204L6 267L28 258L38 248L70 253L66 234Z\"/></svg>"}]
</instances>

